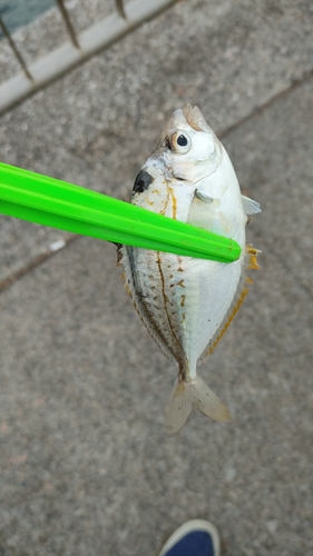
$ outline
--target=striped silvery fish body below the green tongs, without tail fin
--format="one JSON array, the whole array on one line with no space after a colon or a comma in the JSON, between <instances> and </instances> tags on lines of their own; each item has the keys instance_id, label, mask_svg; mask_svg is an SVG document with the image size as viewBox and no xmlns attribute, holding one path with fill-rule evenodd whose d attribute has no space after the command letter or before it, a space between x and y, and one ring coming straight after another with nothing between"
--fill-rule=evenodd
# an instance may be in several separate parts
<instances>
[{"instance_id":1,"label":"striped silvery fish body below the green tongs, without tail fin","mask_svg":"<svg viewBox=\"0 0 313 556\"><path fill-rule=\"evenodd\" d=\"M196 376L238 289L241 259L232 265L127 247L126 284L136 308L184 378Z\"/></svg>"}]
</instances>

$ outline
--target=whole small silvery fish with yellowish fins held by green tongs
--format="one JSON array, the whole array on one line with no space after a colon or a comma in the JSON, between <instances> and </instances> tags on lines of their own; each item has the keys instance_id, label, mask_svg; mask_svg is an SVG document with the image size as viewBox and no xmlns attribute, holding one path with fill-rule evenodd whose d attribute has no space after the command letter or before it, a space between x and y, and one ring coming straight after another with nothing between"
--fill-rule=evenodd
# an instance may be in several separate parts
<instances>
[{"instance_id":1,"label":"whole small silvery fish with yellowish fins held by green tongs","mask_svg":"<svg viewBox=\"0 0 313 556\"><path fill-rule=\"evenodd\" d=\"M258 202L241 193L229 157L198 107L174 111L157 148L136 177L130 202L238 242L238 260L225 264L121 246L125 287L151 337L178 374L166 426L177 433L194 407L219 421L231 414L198 373L239 309L257 269L258 249L246 246L250 215Z\"/></svg>"}]
</instances>

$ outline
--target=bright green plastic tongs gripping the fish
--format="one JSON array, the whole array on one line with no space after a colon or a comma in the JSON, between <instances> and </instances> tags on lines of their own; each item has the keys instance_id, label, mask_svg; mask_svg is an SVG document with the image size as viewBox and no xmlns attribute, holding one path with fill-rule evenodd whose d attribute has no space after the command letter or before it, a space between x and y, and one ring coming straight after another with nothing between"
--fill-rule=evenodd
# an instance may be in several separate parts
<instances>
[{"instance_id":1,"label":"bright green plastic tongs gripping the fish","mask_svg":"<svg viewBox=\"0 0 313 556\"><path fill-rule=\"evenodd\" d=\"M219 262L236 241L106 195L0 162L0 214L115 244Z\"/></svg>"}]
</instances>

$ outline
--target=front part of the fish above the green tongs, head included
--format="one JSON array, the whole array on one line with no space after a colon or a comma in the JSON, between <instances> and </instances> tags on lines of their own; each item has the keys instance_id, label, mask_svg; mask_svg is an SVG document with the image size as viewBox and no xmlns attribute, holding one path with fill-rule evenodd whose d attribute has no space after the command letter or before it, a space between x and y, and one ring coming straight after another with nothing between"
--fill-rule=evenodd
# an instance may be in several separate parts
<instances>
[{"instance_id":1,"label":"front part of the fish above the green tongs, head included","mask_svg":"<svg viewBox=\"0 0 313 556\"><path fill-rule=\"evenodd\" d=\"M233 165L198 107L174 111L136 178L131 202L227 237L244 230Z\"/></svg>"}]
</instances>

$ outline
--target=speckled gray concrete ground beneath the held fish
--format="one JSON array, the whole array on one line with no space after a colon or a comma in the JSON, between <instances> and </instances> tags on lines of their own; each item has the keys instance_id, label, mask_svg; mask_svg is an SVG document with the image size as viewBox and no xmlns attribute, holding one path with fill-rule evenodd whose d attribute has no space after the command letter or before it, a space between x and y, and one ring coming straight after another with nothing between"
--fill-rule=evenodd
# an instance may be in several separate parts
<instances>
[{"instance_id":1,"label":"speckled gray concrete ground beneath the held fish","mask_svg":"<svg viewBox=\"0 0 313 556\"><path fill-rule=\"evenodd\" d=\"M312 556L312 20L309 1L179 2L0 121L1 160L127 198L190 101L263 208L262 269L203 364L232 424L166 436L176 368L114 246L79 238L2 291L1 556L157 555L194 517L225 555ZM2 280L63 237L0 225Z\"/></svg>"}]
</instances>

